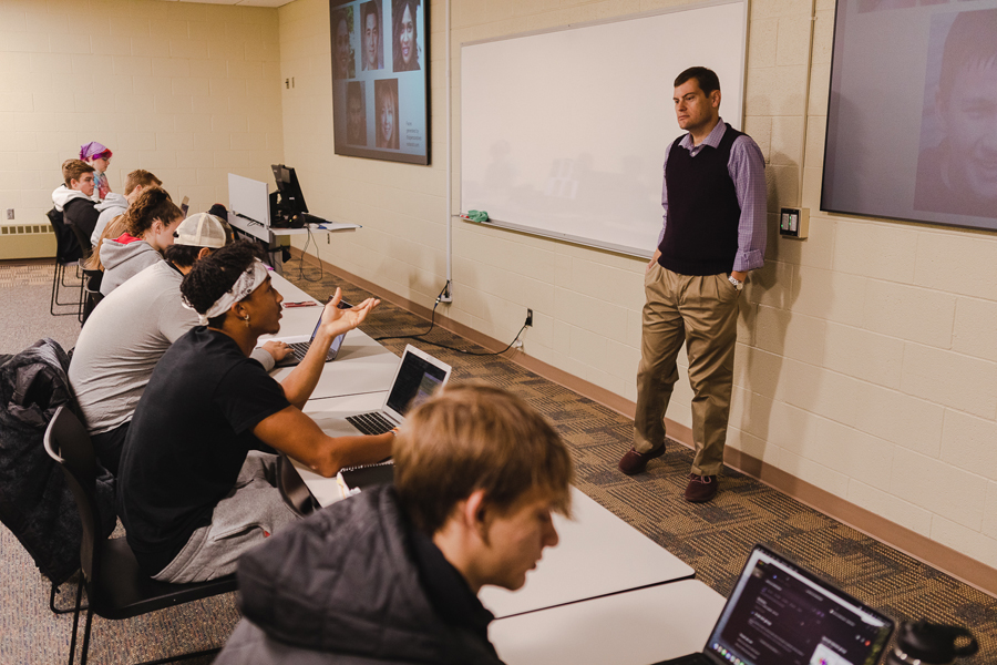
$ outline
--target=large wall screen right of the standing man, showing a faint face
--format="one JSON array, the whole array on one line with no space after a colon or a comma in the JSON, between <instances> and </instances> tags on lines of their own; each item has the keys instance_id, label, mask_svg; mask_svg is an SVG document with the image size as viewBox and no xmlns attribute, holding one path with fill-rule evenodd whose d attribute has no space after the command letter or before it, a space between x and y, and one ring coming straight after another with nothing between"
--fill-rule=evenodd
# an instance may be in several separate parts
<instances>
[{"instance_id":1,"label":"large wall screen right of the standing man, showing a faint face","mask_svg":"<svg viewBox=\"0 0 997 665\"><path fill-rule=\"evenodd\" d=\"M821 209L997 231L997 0L837 0Z\"/></svg>"}]
</instances>

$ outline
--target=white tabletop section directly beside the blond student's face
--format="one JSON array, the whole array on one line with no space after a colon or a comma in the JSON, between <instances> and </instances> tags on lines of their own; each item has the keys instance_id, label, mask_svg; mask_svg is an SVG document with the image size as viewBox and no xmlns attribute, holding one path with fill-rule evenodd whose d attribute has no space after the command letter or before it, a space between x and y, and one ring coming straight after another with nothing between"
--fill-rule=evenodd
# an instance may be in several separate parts
<instances>
[{"instance_id":1,"label":"white tabletop section directly beside the blond student's face","mask_svg":"<svg viewBox=\"0 0 997 665\"><path fill-rule=\"evenodd\" d=\"M526 585L511 592L481 591L481 602L497 616L512 616L629 589L692 577L688 564L611 512L572 488L575 519L554 516L561 543L544 550Z\"/></svg>"}]
</instances>

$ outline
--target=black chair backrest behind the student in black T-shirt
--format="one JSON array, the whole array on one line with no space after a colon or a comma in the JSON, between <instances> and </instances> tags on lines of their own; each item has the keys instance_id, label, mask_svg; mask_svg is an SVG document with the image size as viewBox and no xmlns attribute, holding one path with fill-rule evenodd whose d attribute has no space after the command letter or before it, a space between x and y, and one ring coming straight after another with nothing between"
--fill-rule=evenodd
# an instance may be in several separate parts
<instances>
[{"instance_id":1,"label":"black chair backrest behind the student in black T-shirt","mask_svg":"<svg viewBox=\"0 0 997 665\"><path fill-rule=\"evenodd\" d=\"M80 543L80 564L88 582L101 565L101 513L96 501L96 456L86 428L66 407L59 407L45 430L45 451L65 473L65 480L76 500L76 510L83 523L83 540ZM99 600L91 592L93 606Z\"/></svg>"}]
</instances>

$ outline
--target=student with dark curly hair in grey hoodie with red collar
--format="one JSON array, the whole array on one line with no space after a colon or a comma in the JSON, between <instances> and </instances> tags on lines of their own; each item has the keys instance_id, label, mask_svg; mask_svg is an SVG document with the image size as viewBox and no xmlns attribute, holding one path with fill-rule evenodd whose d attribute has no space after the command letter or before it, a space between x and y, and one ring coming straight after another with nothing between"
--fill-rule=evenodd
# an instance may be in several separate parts
<instances>
[{"instance_id":1,"label":"student with dark curly hair in grey hoodie with red collar","mask_svg":"<svg viewBox=\"0 0 997 665\"><path fill-rule=\"evenodd\" d=\"M101 243L101 293L110 296L129 277L163 260L163 250L173 244L173 232L183 219L184 213L166 190L150 187L140 194L124 214L127 231Z\"/></svg>"}]
</instances>

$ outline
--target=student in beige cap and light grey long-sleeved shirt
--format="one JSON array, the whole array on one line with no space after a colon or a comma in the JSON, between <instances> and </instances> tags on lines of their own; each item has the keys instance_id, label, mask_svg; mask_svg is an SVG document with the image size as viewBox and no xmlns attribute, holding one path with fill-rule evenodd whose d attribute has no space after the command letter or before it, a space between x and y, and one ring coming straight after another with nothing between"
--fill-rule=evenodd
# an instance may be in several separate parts
<instances>
[{"instance_id":1,"label":"student in beige cap and light grey long-sleeved shirt","mask_svg":"<svg viewBox=\"0 0 997 665\"><path fill-rule=\"evenodd\" d=\"M206 213L184 219L166 260L145 268L101 301L80 332L69 379L101 463L117 474L132 415L166 349L197 325L179 285L194 264L228 243L223 222ZM266 349L266 350L264 350ZM288 354L268 341L253 358L268 371Z\"/></svg>"}]
</instances>

